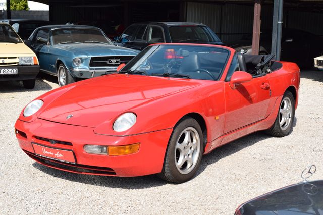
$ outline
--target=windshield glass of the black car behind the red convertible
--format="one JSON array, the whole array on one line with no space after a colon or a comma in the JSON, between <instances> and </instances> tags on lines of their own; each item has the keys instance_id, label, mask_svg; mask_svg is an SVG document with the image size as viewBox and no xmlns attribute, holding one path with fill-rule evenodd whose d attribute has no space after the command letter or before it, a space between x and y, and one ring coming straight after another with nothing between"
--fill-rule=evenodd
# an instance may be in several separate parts
<instances>
[{"instance_id":1,"label":"windshield glass of the black car behind the red convertible","mask_svg":"<svg viewBox=\"0 0 323 215\"><path fill-rule=\"evenodd\" d=\"M220 42L221 40L205 26L172 26L169 28L172 42Z\"/></svg>"}]
</instances>

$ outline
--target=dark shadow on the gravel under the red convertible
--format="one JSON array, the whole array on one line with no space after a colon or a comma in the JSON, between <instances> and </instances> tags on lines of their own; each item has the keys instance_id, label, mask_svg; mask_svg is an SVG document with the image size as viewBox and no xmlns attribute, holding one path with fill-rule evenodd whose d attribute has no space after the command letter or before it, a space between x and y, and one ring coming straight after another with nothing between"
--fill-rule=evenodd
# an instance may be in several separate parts
<instances>
[{"instance_id":1,"label":"dark shadow on the gravel under the red convertible","mask_svg":"<svg viewBox=\"0 0 323 215\"><path fill-rule=\"evenodd\" d=\"M297 118L295 117L293 127L296 126ZM292 129L293 132L293 129ZM212 163L218 162L222 158L234 154L241 149L249 147L253 144L258 143L259 141L274 138L265 134L263 131L259 131L242 138L239 138L229 144L221 146L214 151L206 154L202 157L202 162L200 168L197 171L197 174L194 176L198 176L201 174L204 169ZM113 177L113 176L94 176L94 175L83 175L83 174L76 174L76 173L69 173L57 169L53 169L50 167L46 167L44 165L38 164L37 162L33 163L32 166L46 174L52 175L54 177L58 177L64 180L84 183L84 184L91 184L96 186L102 187L110 187L110 188L122 188L122 189L145 189L150 187L158 187L168 184L163 180L160 180L155 175L149 176L140 176L140 177L129 177L129 178L122 178L122 177Z\"/></svg>"}]
</instances>

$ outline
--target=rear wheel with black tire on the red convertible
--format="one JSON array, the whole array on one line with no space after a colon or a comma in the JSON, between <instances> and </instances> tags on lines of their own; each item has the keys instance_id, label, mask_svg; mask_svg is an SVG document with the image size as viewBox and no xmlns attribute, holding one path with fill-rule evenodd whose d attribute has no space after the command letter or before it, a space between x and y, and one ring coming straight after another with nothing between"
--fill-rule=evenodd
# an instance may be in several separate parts
<instances>
[{"instance_id":1,"label":"rear wheel with black tire on the red convertible","mask_svg":"<svg viewBox=\"0 0 323 215\"><path fill-rule=\"evenodd\" d=\"M287 104L289 103L289 101L290 101L290 104ZM288 105L290 105L290 108L288 108L290 110L286 111L287 117L284 117L281 112L283 111L285 112L284 108ZM266 133L275 137L284 137L290 134L294 124L294 116L295 116L295 99L293 94L290 91L286 91L280 103L276 120L273 126L270 129L266 130ZM284 122L283 119L290 119L290 120L287 123L286 121Z\"/></svg>"}]
</instances>

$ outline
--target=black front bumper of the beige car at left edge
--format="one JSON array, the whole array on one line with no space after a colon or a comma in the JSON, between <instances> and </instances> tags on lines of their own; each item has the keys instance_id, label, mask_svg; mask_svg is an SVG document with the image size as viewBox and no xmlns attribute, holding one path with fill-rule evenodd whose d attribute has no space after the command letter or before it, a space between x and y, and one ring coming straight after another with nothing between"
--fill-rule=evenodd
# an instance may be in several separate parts
<instances>
[{"instance_id":1,"label":"black front bumper of the beige car at left edge","mask_svg":"<svg viewBox=\"0 0 323 215\"><path fill-rule=\"evenodd\" d=\"M39 73L39 65L26 65L26 66L2 66L1 69L18 69L18 74L13 75L0 75L0 81L16 81L16 80L29 80L35 79Z\"/></svg>"}]
</instances>

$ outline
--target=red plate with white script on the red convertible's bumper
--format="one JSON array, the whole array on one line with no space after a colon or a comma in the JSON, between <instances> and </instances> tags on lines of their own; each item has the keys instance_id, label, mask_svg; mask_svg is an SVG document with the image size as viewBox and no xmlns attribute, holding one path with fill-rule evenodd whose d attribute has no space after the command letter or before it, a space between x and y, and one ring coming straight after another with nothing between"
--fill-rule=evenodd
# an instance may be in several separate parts
<instances>
[{"instance_id":1,"label":"red plate with white script on the red convertible's bumper","mask_svg":"<svg viewBox=\"0 0 323 215\"><path fill-rule=\"evenodd\" d=\"M75 157L72 150L58 149L32 143L35 154L53 160L75 164Z\"/></svg>"}]
</instances>

